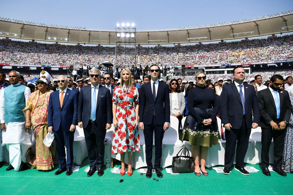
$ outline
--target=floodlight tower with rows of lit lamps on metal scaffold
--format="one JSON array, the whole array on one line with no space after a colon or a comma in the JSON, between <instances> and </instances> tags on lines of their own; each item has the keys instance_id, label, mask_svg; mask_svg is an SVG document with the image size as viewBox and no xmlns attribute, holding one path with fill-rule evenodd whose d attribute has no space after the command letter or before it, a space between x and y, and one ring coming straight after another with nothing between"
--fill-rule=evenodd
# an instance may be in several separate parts
<instances>
[{"instance_id":1,"label":"floodlight tower with rows of lit lamps on metal scaffold","mask_svg":"<svg viewBox=\"0 0 293 195\"><path fill-rule=\"evenodd\" d=\"M115 27L115 54L116 64L118 65L118 55L128 54L133 55L134 51L134 66L136 67L136 27L132 23L117 23ZM121 54L122 52L122 54Z\"/></svg>"}]
</instances>

